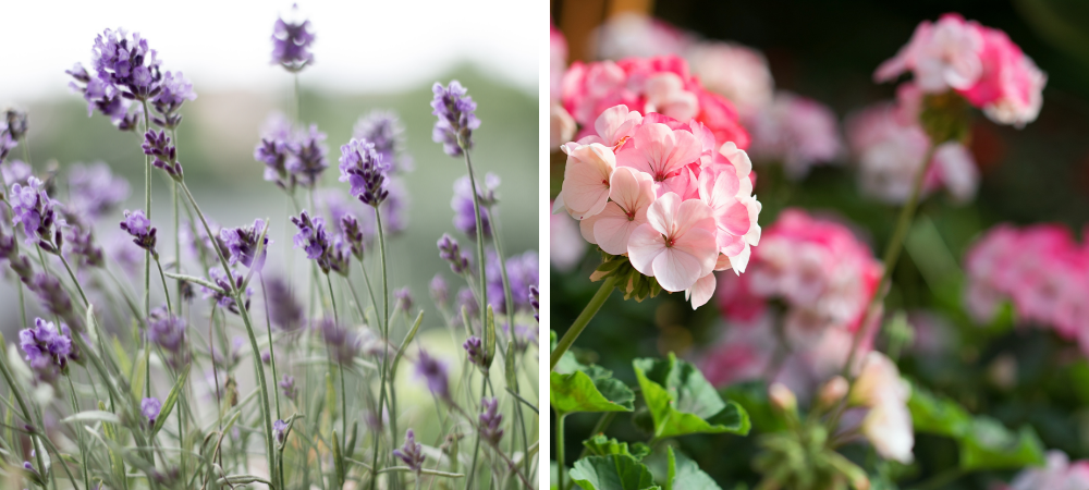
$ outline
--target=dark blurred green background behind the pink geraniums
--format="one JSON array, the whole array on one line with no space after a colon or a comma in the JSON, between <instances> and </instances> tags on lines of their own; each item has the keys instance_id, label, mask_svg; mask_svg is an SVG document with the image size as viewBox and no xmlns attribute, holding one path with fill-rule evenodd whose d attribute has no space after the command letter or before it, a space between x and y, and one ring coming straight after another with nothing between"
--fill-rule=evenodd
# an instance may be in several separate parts
<instances>
[{"instance_id":1,"label":"dark blurred green background behind the pink geraniums","mask_svg":"<svg viewBox=\"0 0 1089 490\"><path fill-rule=\"evenodd\" d=\"M976 118L970 150L980 168L979 193L964 206L944 195L922 204L907 249L893 272L886 311L907 311L917 328L931 326L927 344L938 346L925 350L920 341L906 353L900 363L906 376L1007 427L1030 425L1047 448L1065 451L1072 461L1089 456L1089 364L1076 342L1038 329L1015 328L1008 315L991 326L976 324L962 306L963 275L957 267L972 241L999 222L1059 222L1085 243L1082 230L1089 230L1089 2L554 1L552 19L564 29L568 25L561 20L572 19L564 10L585 9L596 15L594 22L601 23L621 4L641 8L705 38L761 50L776 89L829 105L841 123L854 110L895 97L895 84L874 84L872 73L907 42L919 22L958 12L1005 30L1049 76L1040 117L1023 130L996 125L982 114ZM576 56L586 51L572 47ZM552 162L554 196L563 176L562 156L553 155ZM796 184L785 181L778 166L755 163L756 193L763 204L760 223L766 230L785 207L803 207L849 220L871 249L884 248L898 209L861 196L849 160L817 167ZM588 278L598 264L600 257L590 250L571 272L552 269L552 329L559 334L597 291L599 283ZM663 356L669 351L698 357L723 328L713 299L693 311L683 294L635 303L614 293L573 351L635 385L633 358ZM921 330L918 334L923 335ZM1013 383L996 379L1011 359ZM583 436L597 420L594 414L567 418L568 455L578 454ZM607 433L622 441L647 439L624 416ZM687 437L680 442L723 488L757 481L750 466L754 436ZM952 441L925 436L917 439L915 455L918 464L913 470L920 476L932 475L957 457ZM1008 480L1013 473L969 475L942 488L987 489L996 478Z\"/></svg>"}]
</instances>

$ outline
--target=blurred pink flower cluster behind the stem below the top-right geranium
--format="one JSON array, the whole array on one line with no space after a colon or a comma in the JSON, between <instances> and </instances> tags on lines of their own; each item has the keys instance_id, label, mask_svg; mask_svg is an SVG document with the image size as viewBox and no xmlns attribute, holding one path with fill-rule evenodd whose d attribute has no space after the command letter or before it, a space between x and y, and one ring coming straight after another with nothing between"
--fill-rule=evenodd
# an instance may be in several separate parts
<instances>
[{"instance_id":1,"label":"blurred pink flower cluster behind the stem below the top-right geranium","mask_svg":"<svg viewBox=\"0 0 1089 490\"><path fill-rule=\"evenodd\" d=\"M931 140L919 124L922 91L905 83L896 102L879 102L847 119L847 140L858 162L862 193L890 204L907 200L922 168ZM957 201L971 200L979 187L979 170L960 142L941 143L922 181L929 194L945 188Z\"/></svg>"}]
</instances>

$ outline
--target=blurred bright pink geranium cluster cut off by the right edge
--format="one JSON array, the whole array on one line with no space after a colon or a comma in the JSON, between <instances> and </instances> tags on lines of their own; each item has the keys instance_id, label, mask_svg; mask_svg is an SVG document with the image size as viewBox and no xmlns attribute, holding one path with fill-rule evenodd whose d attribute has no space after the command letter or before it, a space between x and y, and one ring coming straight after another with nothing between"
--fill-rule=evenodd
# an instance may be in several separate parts
<instances>
[{"instance_id":1,"label":"blurred bright pink geranium cluster cut off by the right edge","mask_svg":"<svg viewBox=\"0 0 1089 490\"><path fill-rule=\"evenodd\" d=\"M1021 323L1051 328L1089 353L1089 247L1059 224L1000 224L965 257L966 306L991 321L1011 302Z\"/></svg>"}]
</instances>

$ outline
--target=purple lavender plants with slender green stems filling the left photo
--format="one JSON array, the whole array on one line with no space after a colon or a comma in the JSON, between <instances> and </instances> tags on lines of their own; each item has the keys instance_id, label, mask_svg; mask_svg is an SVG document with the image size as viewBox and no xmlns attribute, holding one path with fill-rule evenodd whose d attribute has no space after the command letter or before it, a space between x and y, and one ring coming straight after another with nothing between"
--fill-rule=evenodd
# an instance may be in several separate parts
<instances>
[{"instance_id":1,"label":"purple lavender plants with slender green stems filling the left photo","mask_svg":"<svg viewBox=\"0 0 1089 490\"><path fill-rule=\"evenodd\" d=\"M105 30L90 70L68 73L89 113L143 130L143 209L120 212L129 184L101 163L46 179L25 113L0 121L0 264L21 321L19 346L0 350L4 488L536 488L537 256L504 255L500 180L478 182L470 159L476 103L456 81L435 85L433 139L467 170L452 225L476 254L437 236L464 286L451 302L437 274L441 318L425 318L390 281L414 169L403 127L392 112L362 118L340 148L340 183L327 179L327 137L298 97L314 39L308 21L277 21L272 62L295 77L295 119L270 118L254 150L289 230L269 217L220 226L200 207L176 143L196 93L138 33ZM24 160L9 158L20 146ZM172 191L172 219L150 213L152 173ZM125 253L103 253L98 218L127 235ZM138 252L143 273L130 267ZM432 327L449 350L418 340ZM399 406L406 387L431 400ZM432 409L438 422L425 424Z\"/></svg>"}]
</instances>

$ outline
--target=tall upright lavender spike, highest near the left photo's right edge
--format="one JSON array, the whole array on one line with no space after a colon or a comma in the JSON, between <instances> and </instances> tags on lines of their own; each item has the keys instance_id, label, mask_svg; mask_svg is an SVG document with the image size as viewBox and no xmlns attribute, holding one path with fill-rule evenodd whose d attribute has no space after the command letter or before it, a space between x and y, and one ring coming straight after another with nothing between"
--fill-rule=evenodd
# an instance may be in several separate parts
<instances>
[{"instance_id":1,"label":"tall upright lavender spike, highest near the left photo's right edge","mask_svg":"<svg viewBox=\"0 0 1089 490\"><path fill-rule=\"evenodd\" d=\"M474 113L476 102L456 79L446 87L436 82L431 91L435 93L431 113L439 117L431 139L441 143L446 155L461 157L464 149L473 147L473 130L480 127L480 120Z\"/></svg>"}]
</instances>

